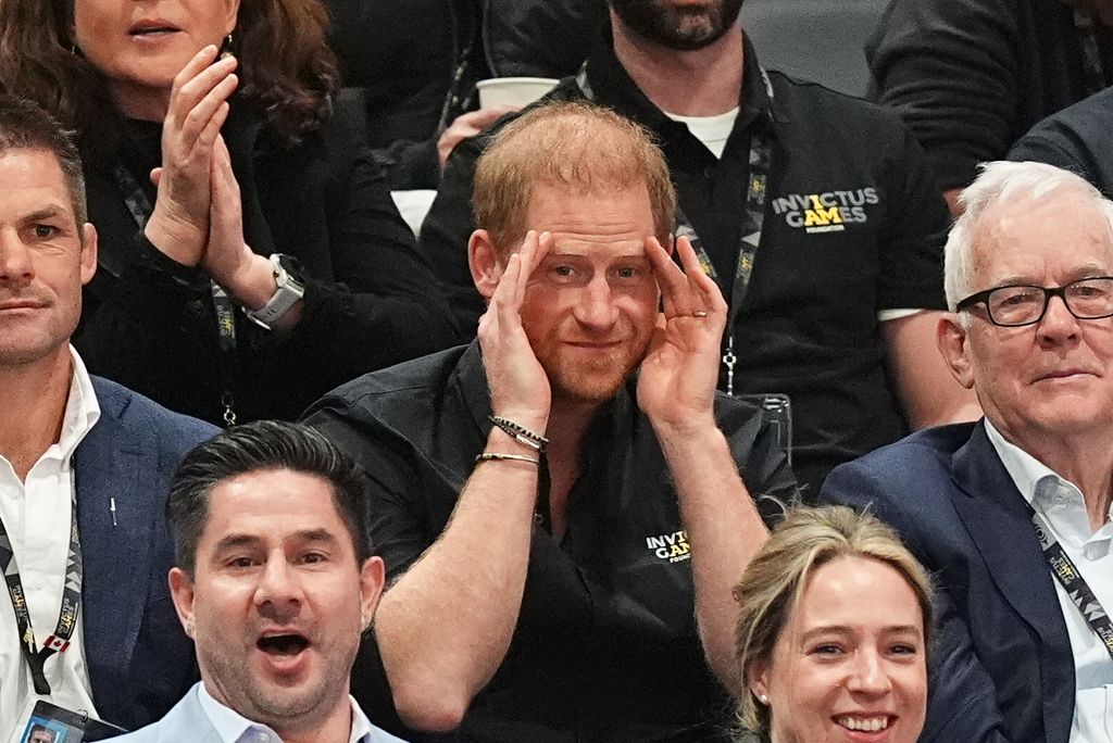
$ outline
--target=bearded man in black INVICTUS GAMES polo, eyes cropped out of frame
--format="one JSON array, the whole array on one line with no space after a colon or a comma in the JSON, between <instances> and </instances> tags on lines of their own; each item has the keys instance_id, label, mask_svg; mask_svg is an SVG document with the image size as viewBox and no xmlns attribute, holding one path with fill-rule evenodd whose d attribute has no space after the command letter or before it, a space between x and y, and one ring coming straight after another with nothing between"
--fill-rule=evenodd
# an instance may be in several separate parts
<instances>
[{"instance_id":1,"label":"bearded man in black INVICTUS GAMES polo, eyes cropped out of frame","mask_svg":"<svg viewBox=\"0 0 1113 743\"><path fill-rule=\"evenodd\" d=\"M807 498L908 424L979 410L935 348L948 217L923 151L893 113L762 71L739 6L613 0L611 33L550 99L590 98L658 137L678 232L698 236L730 303L720 388L789 396ZM420 240L461 327L482 311L464 246L485 143L453 152Z\"/></svg>"}]
</instances>

